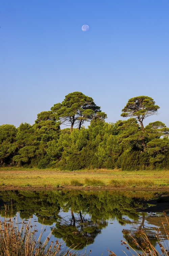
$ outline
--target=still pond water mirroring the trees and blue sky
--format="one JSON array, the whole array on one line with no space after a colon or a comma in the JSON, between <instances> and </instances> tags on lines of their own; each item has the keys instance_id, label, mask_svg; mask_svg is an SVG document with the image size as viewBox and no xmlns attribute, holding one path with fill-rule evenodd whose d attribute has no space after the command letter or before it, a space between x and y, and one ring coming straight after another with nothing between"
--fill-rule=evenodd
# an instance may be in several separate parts
<instances>
[{"instance_id":1,"label":"still pond water mirroring the trees and blue sky","mask_svg":"<svg viewBox=\"0 0 169 256\"><path fill-rule=\"evenodd\" d=\"M169 215L169 193L144 191L0 191L0 213L18 215L18 221L31 218L32 225L45 229L44 239L53 229L51 240L63 240L78 252L92 255L130 255L121 240L135 250L129 233L137 237L144 228L151 243L160 251L154 229L167 239L162 222L168 229L164 212ZM169 217L167 217L169 219ZM46 236L46 237L45 237ZM124 252L126 252L126 254Z\"/></svg>"}]
</instances>

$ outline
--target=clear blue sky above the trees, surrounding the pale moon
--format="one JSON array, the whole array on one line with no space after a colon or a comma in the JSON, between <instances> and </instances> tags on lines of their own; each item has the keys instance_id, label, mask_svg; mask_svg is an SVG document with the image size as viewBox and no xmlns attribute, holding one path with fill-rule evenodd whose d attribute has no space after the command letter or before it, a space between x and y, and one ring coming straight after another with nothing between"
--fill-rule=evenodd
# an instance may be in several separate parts
<instances>
[{"instance_id":1,"label":"clear blue sky above the trees, surrounding the pale moon","mask_svg":"<svg viewBox=\"0 0 169 256\"><path fill-rule=\"evenodd\" d=\"M0 26L0 125L33 124L79 91L107 122L152 97L159 115L145 124L169 126L168 0L2 0Z\"/></svg>"}]
</instances>

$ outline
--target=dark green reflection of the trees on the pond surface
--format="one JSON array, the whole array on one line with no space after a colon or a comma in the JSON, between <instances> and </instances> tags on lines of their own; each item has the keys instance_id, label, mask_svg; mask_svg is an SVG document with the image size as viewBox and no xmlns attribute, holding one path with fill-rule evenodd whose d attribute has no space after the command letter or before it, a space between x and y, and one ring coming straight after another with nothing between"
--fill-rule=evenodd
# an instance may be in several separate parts
<instances>
[{"instance_id":1,"label":"dark green reflection of the trees on the pond surface","mask_svg":"<svg viewBox=\"0 0 169 256\"><path fill-rule=\"evenodd\" d=\"M4 204L9 205L9 215L20 212L21 218L28 219L35 214L38 222L54 225L53 235L66 240L68 247L74 244L82 249L94 242L108 220L116 219L121 225L138 224L140 213L136 210L141 202L159 195L143 191L1 191L0 208L1 216L5 214ZM61 210L68 216L62 216ZM141 226L144 226L145 213L142 217ZM124 238L132 244L128 232L135 237L137 232L123 230ZM152 237L152 243L155 242Z\"/></svg>"}]
</instances>

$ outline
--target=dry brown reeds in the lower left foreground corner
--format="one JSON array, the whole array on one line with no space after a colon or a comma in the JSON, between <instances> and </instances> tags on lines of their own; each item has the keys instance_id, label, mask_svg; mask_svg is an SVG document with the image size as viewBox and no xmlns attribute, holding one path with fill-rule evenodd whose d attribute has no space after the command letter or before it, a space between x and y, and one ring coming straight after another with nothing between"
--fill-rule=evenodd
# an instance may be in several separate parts
<instances>
[{"instance_id":1,"label":"dry brown reeds in the lower left foreground corner","mask_svg":"<svg viewBox=\"0 0 169 256\"><path fill-rule=\"evenodd\" d=\"M49 242L51 233L42 242L43 231L37 239L35 227L30 221L22 221L20 227L15 218L5 216L0 220L0 256L74 256L77 253L73 249L64 250L63 243ZM85 253L86 254L86 253ZM84 254L84 255L85 255Z\"/></svg>"}]
</instances>

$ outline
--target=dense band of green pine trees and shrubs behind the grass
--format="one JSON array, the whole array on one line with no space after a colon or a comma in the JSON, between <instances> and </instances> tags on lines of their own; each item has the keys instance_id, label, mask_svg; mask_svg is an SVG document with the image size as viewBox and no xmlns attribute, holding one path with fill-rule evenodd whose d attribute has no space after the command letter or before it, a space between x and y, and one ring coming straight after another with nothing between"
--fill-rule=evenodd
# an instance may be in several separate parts
<instances>
[{"instance_id":1,"label":"dense band of green pine trees and shrubs behind the grass","mask_svg":"<svg viewBox=\"0 0 169 256\"><path fill-rule=\"evenodd\" d=\"M122 110L129 119L106 123L106 114L91 97L70 93L51 111L39 113L33 125L0 126L0 165L71 171L169 169L169 128L160 121L143 124L158 109L152 98L138 96ZM85 121L90 121L88 128L82 126ZM70 129L61 130L62 123Z\"/></svg>"}]
</instances>

